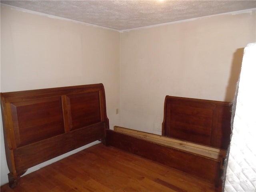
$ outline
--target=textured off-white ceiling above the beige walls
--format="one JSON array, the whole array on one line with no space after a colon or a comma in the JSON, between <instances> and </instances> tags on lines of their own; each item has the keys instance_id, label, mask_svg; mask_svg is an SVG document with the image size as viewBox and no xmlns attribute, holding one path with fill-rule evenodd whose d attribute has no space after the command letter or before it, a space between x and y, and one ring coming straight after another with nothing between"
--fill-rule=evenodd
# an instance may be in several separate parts
<instances>
[{"instance_id":1,"label":"textured off-white ceiling above the beige walls","mask_svg":"<svg viewBox=\"0 0 256 192\"><path fill-rule=\"evenodd\" d=\"M1 3L115 30L256 8L255 0L1 0Z\"/></svg>"}]
</instances>

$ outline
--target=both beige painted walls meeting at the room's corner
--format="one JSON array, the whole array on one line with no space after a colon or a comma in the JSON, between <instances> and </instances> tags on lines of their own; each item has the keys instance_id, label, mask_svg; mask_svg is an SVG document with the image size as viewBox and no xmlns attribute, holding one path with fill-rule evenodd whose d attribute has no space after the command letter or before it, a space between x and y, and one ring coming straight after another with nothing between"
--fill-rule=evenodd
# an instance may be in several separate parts
<instances>
[{"instance_id":1,"label":"both beige painted walls meeting at the room's corner","mask_svg":"<svg viewBox=\"0 0 256 192\"><path fill-rule=\"evenodd\" d=\"M166 95L232 100L243 48L255 36L255 11L120 33L1 5L0 90L102 82L110 128L160 134ZM2 122L0 131L2 185Z\"/></svg>"}]
</instances>

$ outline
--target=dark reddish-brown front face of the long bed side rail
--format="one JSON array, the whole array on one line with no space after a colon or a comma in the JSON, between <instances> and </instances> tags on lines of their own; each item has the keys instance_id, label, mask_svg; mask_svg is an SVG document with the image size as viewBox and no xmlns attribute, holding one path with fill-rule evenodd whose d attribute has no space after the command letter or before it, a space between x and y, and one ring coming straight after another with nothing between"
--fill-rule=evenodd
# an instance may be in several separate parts
<instances>
[{"instance_id":1,"label":"dark reddish-brown front face of the long bed side rail","mask_svg":"<svg viewBox=\"0 0 256 192\"><path fill-rule=\"evenodd\" d=\"M220 161L106 130L106 144L219 184Z\"/></svg>"}]
</instances>

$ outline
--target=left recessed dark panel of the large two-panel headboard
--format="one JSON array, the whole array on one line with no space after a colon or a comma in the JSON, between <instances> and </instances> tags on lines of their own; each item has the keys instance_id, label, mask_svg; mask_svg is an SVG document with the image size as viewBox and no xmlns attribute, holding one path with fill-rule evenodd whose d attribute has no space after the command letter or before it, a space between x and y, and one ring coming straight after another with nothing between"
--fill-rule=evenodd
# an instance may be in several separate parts
<instances>
[{"instance_id":1,"label":"left recessed dark panel of the large two-panel headboard","mask_svg":"<svg viewBox=\"0 0 256 192\"><path fill-rule=\"evenodd\" d=\"M11 104L16 147L64 133L61 97Z\"/></svg>"}]
</instances>

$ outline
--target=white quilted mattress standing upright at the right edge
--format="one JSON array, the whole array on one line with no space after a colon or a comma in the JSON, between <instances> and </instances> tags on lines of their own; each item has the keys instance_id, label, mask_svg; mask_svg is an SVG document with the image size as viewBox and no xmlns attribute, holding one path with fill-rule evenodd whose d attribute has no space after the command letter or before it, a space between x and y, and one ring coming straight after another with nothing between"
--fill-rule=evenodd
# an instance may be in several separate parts
<instances>
[{"instance_id":1,"label":"white quilted mattress standing upright at the right edge","mask_svg":"<svg viewBox=\"0 0 256 192\"><path fill-rule=\"evenodd\" d=\"M248 44L234 99L225 192L256 191L256 44Z\"/></svg>"}]
</instances>

